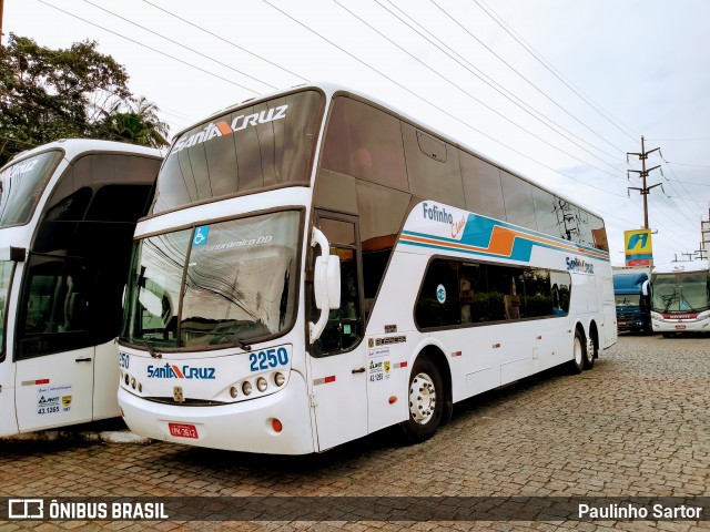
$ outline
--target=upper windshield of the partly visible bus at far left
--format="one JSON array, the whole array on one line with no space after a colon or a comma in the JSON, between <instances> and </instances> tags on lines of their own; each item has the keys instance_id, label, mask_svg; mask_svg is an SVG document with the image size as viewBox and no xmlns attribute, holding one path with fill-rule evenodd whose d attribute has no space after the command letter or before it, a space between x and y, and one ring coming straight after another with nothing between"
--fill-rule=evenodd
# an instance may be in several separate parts
<instances>
[{"instance_id":1,"label":"upper windshield of the partly visible bus at far left","mask_svg":"<svg viewBox=\"0 0 710 532\"><path fill-rule=\"evenodd\" d=\"M27 224L62 154L40 153L0 172L0 227Z\"/></svg>"}]
</instances>

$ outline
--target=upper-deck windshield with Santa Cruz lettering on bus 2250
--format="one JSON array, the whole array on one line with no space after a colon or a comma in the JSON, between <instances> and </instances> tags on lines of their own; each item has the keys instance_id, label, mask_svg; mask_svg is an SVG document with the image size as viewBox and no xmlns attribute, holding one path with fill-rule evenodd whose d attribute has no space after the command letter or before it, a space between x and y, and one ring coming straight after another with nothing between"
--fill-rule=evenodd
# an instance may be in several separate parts
<instances>
[{"instance_id":1,"label":"upper-deck windshield with Santa Cruz lettering on bus 2250","mask_svg":"<svg viewBox=\"0 0 710 532\"><path fill-rule=\"evenodd\" d=\"M302 91L186 131L158 176L152 213L278 185L307 185L322 108L321 93Z\"/></svg>"}]
</instances>

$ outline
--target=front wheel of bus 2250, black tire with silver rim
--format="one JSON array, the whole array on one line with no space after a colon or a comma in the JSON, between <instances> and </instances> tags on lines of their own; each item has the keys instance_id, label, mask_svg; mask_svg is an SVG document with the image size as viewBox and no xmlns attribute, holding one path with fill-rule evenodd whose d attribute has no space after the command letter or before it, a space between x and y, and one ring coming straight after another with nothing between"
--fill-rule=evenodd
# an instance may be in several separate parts
<instances>
[{"instance_id":1,"label":"front wheel of bus 2250, black tire with silver rim","mask_svg":"<svg viewBox=\"0 0 710 532\"><path fill-rule=\"evenodd\" d=\"M445 396L438 368L429 358L419 357L407 390L409 419L402 423L407 440L419 443L434 436L442 423Z\"/></svg>"}]
</instances>

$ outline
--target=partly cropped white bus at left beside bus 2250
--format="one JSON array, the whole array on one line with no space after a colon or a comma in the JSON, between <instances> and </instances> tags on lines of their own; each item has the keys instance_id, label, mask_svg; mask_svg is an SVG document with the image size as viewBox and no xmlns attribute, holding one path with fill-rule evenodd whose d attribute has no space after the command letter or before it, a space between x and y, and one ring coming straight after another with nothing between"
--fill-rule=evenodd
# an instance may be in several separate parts
<instances>
[{"instance_id":1,"label":"partly cropped white bus at left beside bus 2250","mask_svg":"<svg viewBox=\"0 0 710 532\"><path fill-rule=\"evenodd\" d=\"M111 418L135 222L162 155L65 140L0 168L0 436Z\"/></svg>"}]
</instances>

